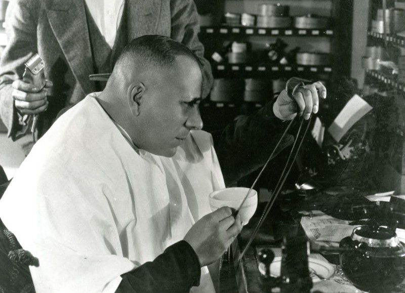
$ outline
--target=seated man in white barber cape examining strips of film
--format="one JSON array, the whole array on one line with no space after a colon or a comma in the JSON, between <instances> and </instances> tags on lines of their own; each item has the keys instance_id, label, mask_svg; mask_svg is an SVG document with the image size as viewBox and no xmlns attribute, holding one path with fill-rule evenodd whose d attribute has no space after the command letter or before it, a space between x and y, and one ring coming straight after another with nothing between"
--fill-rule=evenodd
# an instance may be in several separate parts
<instances>
[{"instance_id":1,"label":"seated man in white barber cape examining strips of film","mask_svg":"<svg viewBox=\"0 0 405 293\"><path fill-rule=\"evenodd\" d=\"M40 292L213 292L207 265L241 230L208 195L225 187L201 131L195 55L164 36L133 40L105 90L64 113L0 200L0 218L39 260ZM316 112L325 88L297 92ZM291 119L283 93L275 112ZM316 107L315 107L316 106ZM304 115L305 117L305 115Z\"/></svg>"}]
</instances>

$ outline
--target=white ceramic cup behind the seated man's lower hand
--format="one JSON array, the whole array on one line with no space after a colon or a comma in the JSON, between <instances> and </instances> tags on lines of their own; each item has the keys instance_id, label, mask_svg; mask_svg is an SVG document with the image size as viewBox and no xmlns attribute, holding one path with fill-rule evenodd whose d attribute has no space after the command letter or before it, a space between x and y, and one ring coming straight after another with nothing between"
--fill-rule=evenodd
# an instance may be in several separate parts
<instances>
[{"instance_id":1,"label":"white ceramic cup behind the seated man's lower hand","mask_svg":"<svg viewBox=\"0 0 405 293\"><path fill-rule=\"evenodd\" d=\"M209 197L211 211L214 212L221 206L238 208L248 191L249 188L246 187L230 187L211 192ZM240 219L244 225L249 223L250 218L255 214L256 207L257 191L252 189L239 211Z\"/></svg>"}]
</instances>

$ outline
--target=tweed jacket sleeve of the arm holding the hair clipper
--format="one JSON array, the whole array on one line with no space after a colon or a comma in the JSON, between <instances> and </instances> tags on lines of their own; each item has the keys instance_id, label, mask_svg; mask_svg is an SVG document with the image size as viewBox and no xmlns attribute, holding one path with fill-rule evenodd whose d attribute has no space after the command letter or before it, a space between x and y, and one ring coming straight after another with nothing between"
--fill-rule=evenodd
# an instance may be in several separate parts
<instances>
[{"instance_id":1,"label":"tweed jacket sleeve of the arm holding the hair clipper","mask_svg":"<svg viewBox=\"0 0 405 293\"><path fill-rule=\"evenodd\" d=\"M10 2L6 15L8 46L0 58L0 116L13 140L18 138L21 129L11 84L22 78L24 63L37 52L36 13L36 2L14 0Z\"/></svg>"}]
</instances>

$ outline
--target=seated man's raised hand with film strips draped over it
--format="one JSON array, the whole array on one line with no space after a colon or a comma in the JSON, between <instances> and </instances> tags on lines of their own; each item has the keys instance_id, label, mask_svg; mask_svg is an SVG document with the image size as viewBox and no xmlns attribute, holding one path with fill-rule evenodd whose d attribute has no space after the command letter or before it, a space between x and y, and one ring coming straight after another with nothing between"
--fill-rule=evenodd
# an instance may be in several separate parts
<instances>
[{"instance_id":1,"label":"seated man's raised hand with film strips draped over it","mask_svg":"<svg viewBox=\"0 0 405 293\"><path fill-rule=\"evenodd\" d=\"M320 81L297 88L294 92L294 100L284 90L273 104L274 115L281 120L291 120L299 113L307 120L311 113L318 112L319 96L326 99L326 88Z\"/></svg>"}]
</instances>

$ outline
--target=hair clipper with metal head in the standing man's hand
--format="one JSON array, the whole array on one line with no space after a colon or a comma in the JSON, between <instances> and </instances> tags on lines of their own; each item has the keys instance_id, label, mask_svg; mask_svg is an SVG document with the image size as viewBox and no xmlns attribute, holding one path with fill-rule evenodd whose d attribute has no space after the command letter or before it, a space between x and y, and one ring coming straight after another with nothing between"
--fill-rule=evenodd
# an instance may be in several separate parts
<instances>
[{"instance_id":1,"label":"hair clipper with metal head in the standing man's hand","mask_svg":"<svg viewBox=\"0 0 405 293\"><path fill-rule=\"evenodd\" d=\"M44 60L39 57L37 53L32 56L26 63L25 63L25 71L22 75L22 79L24 82L30 83L39 91L45 88L46 79L44 73ZM38 120L38 114L35 114L32 119L31 125L31 132L35 132L36 122Z\"/></svg>"}]
</instances>

